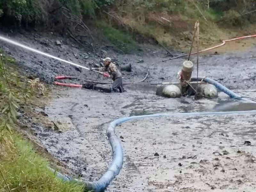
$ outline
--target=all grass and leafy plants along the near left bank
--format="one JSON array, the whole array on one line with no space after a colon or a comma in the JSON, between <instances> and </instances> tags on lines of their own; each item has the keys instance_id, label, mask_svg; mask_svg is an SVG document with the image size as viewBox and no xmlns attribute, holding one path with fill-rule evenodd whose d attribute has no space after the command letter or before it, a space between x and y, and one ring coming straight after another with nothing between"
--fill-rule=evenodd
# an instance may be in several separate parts
<instances>
[{"instance_id":1,"label":"all grass and leafy plants along the near left bank","mask_svg":"<svg viewBox=\"0 0 256 192\"><path fill-rule=\"evenodd\" d=\"M39 79L15 73L14 63L0 50L0 191L82 192L83 186L58 179L47 160L15 131L19 108L30 105L35 96L44 97L45 90Z\"/></svg>"}]
</instances>

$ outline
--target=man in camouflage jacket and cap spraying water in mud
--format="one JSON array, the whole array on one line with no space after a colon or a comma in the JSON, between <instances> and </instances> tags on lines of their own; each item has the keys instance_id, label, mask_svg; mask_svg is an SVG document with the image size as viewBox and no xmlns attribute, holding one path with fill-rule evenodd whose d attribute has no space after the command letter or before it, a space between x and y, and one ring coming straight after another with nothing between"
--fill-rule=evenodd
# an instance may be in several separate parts
<instances>
[{"instance_id":1,"label":"man in camouflage jacket and cap spraying water in mud","mask_svg":"<svg viewBox=\"0 0 256 192\"><path fill-rule=\"evenodd\" d=\"M111 59L109 57L103 59L104 67L101 68L91 68L91 70L97 70L100 72L108 72L107 75L104 74L104 76L108 78L112 78L114 81L112 85L112 91L114 92L124 92L124 86L122 81L122 74L117 69L116 65L111 62Z\"/></svg>"}]
</instances>

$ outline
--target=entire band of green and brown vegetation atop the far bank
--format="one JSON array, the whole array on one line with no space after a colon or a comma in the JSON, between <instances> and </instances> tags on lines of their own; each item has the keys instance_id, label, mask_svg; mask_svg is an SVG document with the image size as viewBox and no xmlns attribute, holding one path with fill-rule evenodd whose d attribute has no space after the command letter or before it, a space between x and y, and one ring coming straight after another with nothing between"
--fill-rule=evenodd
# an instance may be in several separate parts
<instances>
[{"instance_id":1,"label":"entire band of green and brown vegetation atop the far bank","mask_svg":"<svg viewBox=\"0 0 256 192\"><path fill-rule=\"evenodd\" d=\"M120 48L127 44L126 38L120 40L120 34L130 34L136 40L140 40L136 36L140 34L167 46L186 48L196 20L200 21L202 42L206 44L227 34L227 28L242 28L256 20L254 0L3 0L0 7L2 17L12 18L16 25L41 24L61 27L60 31L66 31L74 18L67 18L68 9L84 23L102 29L102 34ZM84 28L89 33L87 26L78 29L77 22L73 23L69 31ZM132 44L130 40L128 44Z\"/></svg>"}]
</instances>

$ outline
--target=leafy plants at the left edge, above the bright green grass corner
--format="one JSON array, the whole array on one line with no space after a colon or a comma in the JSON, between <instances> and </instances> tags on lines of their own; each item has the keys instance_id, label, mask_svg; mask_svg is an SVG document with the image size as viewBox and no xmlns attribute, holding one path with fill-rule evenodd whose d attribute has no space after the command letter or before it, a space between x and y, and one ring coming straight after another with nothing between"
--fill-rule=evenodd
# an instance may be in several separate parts
<instances>
[{"instance_id":1,"label":"leafy plants at the left edge, above the bright green grass corner","mask_svg":"<svg viewBox=\"0 0 256 192\"><path fill-rule=\"evenodd\" d=\"M12 132L11 127L15 125L19 103L27 104L34 92L44 95L44 84L40 83L39 78L26 83L21 82L15 73L6 71L6 61L13 62L12 59L0 54L0 140L5 130Z\"/></svg>"}]
</instances>

